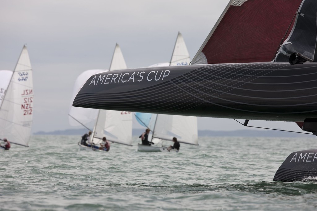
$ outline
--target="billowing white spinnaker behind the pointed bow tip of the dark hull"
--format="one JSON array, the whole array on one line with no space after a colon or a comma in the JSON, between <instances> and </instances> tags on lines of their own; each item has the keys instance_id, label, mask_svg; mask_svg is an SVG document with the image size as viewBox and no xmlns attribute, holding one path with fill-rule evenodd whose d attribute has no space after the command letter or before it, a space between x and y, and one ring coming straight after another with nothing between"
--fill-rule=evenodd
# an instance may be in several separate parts
<instances>
[{"instance_id":1,"label":"billowing white spinnaker behind the pointed bow tip of the dark hull","mask_svg":"<svg viewBox=\"0 0 317 211\"><path fill-rule=\"evenodd\" d=\"M109 70L102 70L102 69L86 70L85 72L83 72L82 74L80 74L77 77L75 84L74 84L72 99L70 101L70 107L69 107L69 115L70 116L68 116L69 125L71 125L71 126L81 126L81 124L94 125L94 122L96 121L99 109L74 107L73 101L74 101L77 93L81 89L81 87L86 83L87 79L90 76L92 76L94 74L98 74L98 73L107 72L107 71L109 71Z\"/></svg>"}]
</instances>

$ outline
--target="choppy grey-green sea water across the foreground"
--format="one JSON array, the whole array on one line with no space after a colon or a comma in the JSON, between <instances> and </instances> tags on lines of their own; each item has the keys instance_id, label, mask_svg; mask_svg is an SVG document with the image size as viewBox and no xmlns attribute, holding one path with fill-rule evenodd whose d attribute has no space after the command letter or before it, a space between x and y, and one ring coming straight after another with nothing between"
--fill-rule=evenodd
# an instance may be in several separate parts
<instances>
[{"instance_id":1,"label":"choppy grey-green sea water across the foreground","mask_svg":"<svg viewBox=\"0 0 317 211\"><path fill-rule=\"evenodd\" d=\"M138 137L80 151L79 139L36 135L0 151L0 210L317 209L317 182L273 182L316 138L199 137L179 153L138 152Z\"/></svg>"}]
</instances>

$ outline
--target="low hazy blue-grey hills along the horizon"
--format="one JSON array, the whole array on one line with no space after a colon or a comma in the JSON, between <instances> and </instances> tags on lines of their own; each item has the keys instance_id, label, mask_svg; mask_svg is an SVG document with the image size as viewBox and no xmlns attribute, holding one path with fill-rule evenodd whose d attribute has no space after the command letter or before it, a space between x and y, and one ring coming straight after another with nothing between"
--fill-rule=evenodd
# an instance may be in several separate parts
<instances>
[{"instance_id":1,"label":"low hazy blue-grey hills along the horizon","mask_svg":"<svg viewBox=\"0 0 317 211\"><path fill-rule=\"evenodd\" d=\"M39 131L33 135L83 135L87 129L67 129L59 131L44 132ZM144 129L133 129L132 135L138 136L144 132ZM240 137L314 137L301 133L275 131L275 130L236 130L236 131L208 131L199 130L198 136L240 136Z\"/></svg>"}]
</instances>

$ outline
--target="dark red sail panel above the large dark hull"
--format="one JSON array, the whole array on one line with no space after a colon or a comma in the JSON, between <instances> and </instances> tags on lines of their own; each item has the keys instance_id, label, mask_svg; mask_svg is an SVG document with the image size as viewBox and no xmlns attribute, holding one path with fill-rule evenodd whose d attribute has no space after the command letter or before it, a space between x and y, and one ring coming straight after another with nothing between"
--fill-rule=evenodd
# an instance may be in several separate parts
<instances>
[{"instance_id":1,"label":"dark red sail panel above the large dark hull","mask_svg":"<svg viewBox=\"0 0 317 211\"><path fill-rule=\"evenodd\" d=\"M241 6L230 5L200 49L207 59L203 63L272 61L301 2L248 0ZM192 63L202 62L194 58Z\"/></svg>"}]
</instances>

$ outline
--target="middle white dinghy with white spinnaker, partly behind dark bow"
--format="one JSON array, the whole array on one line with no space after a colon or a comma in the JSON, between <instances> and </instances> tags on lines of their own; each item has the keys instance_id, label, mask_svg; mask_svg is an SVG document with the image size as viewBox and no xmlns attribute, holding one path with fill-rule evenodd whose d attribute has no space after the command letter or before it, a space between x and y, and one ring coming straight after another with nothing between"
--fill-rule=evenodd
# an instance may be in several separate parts
<instances>
[{"instance_id":1,"label":"middle white dinghy with white spinnaker, partly behind dark bow","mask_svg":"<svg viewBox=\"0 0 317 211\"><path fill-rule=\"evenodd\" d=\"M110 71L126 69L126 62L123 58L120 46L116 44L113 57L110 64ZM78 87L82 86L84 81L96 72L107 72L108 70L87 70L78 76L74 97L78 92ZM99 80L99 79L96 79ZM76 91L75 91L76 90ZM99 109L85 109L71 106L69 111L69 122L71 125L86 125L94 121L94 129L91 130L92 136L88 140L88 146L78 143L80 149L96 150L99 149L102 137L108 141L131 146L132 143L132 113L124 111L108 111Z\"/></svg>"}]
</instances>

